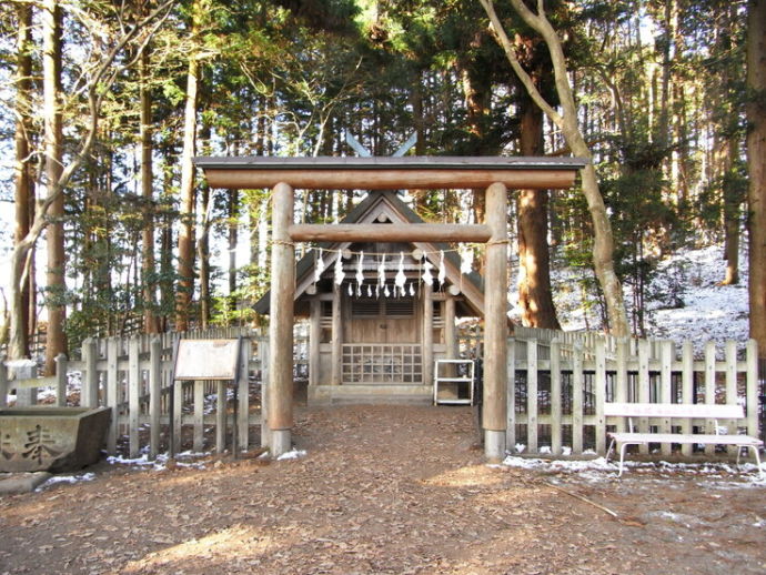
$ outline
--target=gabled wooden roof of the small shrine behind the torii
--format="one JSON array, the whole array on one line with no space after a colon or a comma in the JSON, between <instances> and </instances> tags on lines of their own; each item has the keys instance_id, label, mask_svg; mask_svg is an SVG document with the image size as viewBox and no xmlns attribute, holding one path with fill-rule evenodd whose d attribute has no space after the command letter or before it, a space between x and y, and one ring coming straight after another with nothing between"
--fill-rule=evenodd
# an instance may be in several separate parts
<instances>
[{"instance_id":1,"label":"gabled wooden roof of the small shrine behind the torii","mask_svg":"<svg viewBox=\"0 0 766 575\"><path fill-rule=\"evenodd\" d=\"M397 223L424 223L423 219L420 218L406 203L402 201L396 192L384 191L384 192L370 192L359 204L356 204L343 219L341 223L360 223L365 219L371 218L380 212L379 208L382 205L387 205L390 210L386 210L386 214ZM381 224L385 225L385 224ZM430 260L434 264L437 264L437 260L433 259L435 253L444 251L444 260L446 264L446 278L453 284L460 284L461 280L461 261L460 256L452 251L452 248L445 243L423 243L423 242L412 242L413 245L423 249L424 252L430 254ZM324 250L341 250L347 244L342 243L320 243L318 246ZM330 269L334 259L336 258L335 252L329 252L325 258L326 269ZM306 290L306 288L312 283L311 279L314 275L314 266L316 264L316 259L314 254L309 252L298 262L295 266L295 300L298 300ZM463 275L463 295L466 299L466 303L480 315L484 311L483 301L483 278L476 273L471 272L470 274ZM266 292L256 303L255 311L259 313L268 314L270 305L270 291Z\"/></svg>"}]
</instances>

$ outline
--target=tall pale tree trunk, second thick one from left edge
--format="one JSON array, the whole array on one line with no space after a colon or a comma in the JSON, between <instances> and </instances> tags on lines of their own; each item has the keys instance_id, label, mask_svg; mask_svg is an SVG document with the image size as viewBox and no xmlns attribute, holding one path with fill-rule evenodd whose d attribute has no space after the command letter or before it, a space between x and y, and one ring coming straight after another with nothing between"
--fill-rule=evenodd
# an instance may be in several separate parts
<instances>
[{"instance_id":1,"label":"tall pale tree trunk, second thick one from left edge","mask_svg":"<svg viewBox=\"0 0 766 575\"><path fill-rule=\"evenodd\" d=\"M56 184L62 174L61 125L61 7L58 0L42 2L42 90L46 144L46 190L56 194ZM48 337L46 346L46 374L56 373L56 357L67 353L64 321L67 307L64 293L64 196L56 194L48 215Z\"/></svg>"}]
</instances>

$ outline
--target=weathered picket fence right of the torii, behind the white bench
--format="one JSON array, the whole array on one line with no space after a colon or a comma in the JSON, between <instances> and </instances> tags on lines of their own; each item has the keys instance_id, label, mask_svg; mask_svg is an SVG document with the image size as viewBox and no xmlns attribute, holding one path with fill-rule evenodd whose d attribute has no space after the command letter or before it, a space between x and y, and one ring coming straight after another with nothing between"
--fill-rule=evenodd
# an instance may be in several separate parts
<instances>
[{"instance_id":1,"label":"weathered picket fence right of the torii, behind the white bench","mask_svg":"<svg viewBox=\"0 0 766 575\"><path fill-rule=\"evenodd\" d=\"M759 382L757 344L747 342L744 357L736 342L724 345L723 360L716 345L704 346L695 359L692 343L673 341L578 337L576 333L527 330L508 340L510 448L524 445L524 453L573 456L606 452L606 431L625 430L622 418L604 416L605 402L740 404L746 420L742 432L758 435ZM558 334L558 335L557 335ZM530 337L530 335L541 335ZM736 422L725 423L736 433ZM647 425L639 421L638 425ZM714 433L712 421L693 425ZM674 427L675 428L675 427ZM712 454L714 446L707 446ZM671 445L662 445L663 455ZM642 447L644 453L646 447ZM682 448L691 455L692 445Z\"/></svg>"}]
</instances>

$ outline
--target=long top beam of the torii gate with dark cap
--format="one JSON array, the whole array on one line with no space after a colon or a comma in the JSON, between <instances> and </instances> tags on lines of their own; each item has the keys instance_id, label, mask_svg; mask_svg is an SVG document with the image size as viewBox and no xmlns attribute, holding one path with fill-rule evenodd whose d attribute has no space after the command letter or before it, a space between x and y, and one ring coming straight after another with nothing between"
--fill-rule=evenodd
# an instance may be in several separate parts
<instances>
[{"instance_id":1,"label":"long top beam of the torii gate with dark cap","mask_svg":"<svg viewBox=\"0 0 766 575\"><path fill-rule=\"evenodd\" d=\"M578 158L195 158L211 188L311 190L567 189L585 165Z\"/></svg>"}]
</instances>

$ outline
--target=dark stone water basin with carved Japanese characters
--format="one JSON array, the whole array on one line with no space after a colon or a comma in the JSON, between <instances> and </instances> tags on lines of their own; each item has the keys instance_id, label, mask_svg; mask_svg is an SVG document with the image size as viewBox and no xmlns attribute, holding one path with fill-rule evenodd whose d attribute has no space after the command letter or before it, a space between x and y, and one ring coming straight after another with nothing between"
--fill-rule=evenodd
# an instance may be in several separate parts
<instances>
[{"instance_id":1,"label":"dark stone water basin with carved Japanese characters","mask_svg":"<svg viewBox=\"0 0 766 575\"><path fill-rule=\"evenodd\" d=\"M111 407L0 410L0 472L78 471L101 456Z\"/></svg>"}]
</instances>

